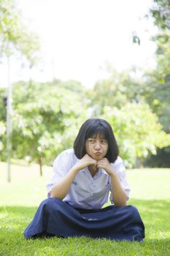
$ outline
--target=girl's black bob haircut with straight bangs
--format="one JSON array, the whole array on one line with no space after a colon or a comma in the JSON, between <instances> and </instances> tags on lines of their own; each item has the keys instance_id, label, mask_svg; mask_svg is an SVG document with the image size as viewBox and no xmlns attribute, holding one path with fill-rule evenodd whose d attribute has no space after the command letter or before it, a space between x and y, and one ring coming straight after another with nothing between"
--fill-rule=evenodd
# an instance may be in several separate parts
<instances>
[{"instance_id":1,"label":"girl's black bob haircut with straight bangs","mask_svg":"<svg viewBox=\"0 0 170 256\"><path fill-rule=\"evenodd\" d=\"M80 131L74 141L74 153L76 157L82 159L85 156L85 140L93 138L98 134L101 135L101 138L107 140L108 143L108 151L105 157L109 162L115 162L119 154L115 135L113 134L111 125L101 118L90 118L80 127Z\"/></svg>"}]
</instances>

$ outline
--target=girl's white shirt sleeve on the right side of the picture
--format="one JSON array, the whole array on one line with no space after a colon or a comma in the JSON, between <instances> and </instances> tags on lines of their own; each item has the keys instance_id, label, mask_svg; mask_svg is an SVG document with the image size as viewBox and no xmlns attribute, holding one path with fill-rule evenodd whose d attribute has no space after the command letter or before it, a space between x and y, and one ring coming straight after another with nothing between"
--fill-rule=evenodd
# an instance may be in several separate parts
<instances>
[{"instance_id":1,"label":"girl's white shirt sleeve on the right side of the picture","mask_svg":"<svg viewBox=\"0 0 170 256\"><path fill-rule=\"evenodd\" d=\"M125 165L123 164L123 159L121 159L120 157L117 157L114 164L112 164L112 167L120 178L121 185L123 189L125 189L125 194L128 200L131 189L128 185L128 181L126 180ZM112 195L112 187L110 188L110 190L111 190L110 200L113 203L114 195Z\"/></svg>"}]
</instances>

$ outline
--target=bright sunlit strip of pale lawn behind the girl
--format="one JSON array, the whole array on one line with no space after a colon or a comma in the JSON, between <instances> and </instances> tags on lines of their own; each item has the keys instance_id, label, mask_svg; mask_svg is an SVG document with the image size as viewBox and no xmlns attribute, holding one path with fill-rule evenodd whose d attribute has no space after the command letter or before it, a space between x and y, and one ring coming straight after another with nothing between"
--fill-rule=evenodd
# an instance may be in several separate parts
<instances>
[{"instance_id":1,"label":"bright sunlit strip of pale lawn behind the girl","mask_svg":"<svg viewBox=\"0 0 170 256\"><path fill-rule=\"evenodd\" d=\"M52 176L52 167L43 167L39 176L38 165L12 165L12 182L7 183L7 166L0 163L1 205L38 206L47 197L46 184ZM169 199L170 169L127 170L131 198Z\"/></svg>"}]
</instances>

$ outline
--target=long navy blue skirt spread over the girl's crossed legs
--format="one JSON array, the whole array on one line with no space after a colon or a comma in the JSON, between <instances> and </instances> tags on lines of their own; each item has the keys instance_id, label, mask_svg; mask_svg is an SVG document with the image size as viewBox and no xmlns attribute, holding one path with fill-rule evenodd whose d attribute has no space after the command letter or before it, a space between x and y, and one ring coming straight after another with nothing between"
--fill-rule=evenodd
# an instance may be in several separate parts
<instances>
[{"instance_id":1,"label":"long navy blue skirt spread over the girl's crossed legs","mask_svg":"<svg viewBox=\"0 0 170 256\"><path fill-rule=\"evenodd\" d=\"M144 224L134 206L107 206L99 210L77 209L58 198L42 201L24 231L26 238L88 236L112 240L142 241Z\"/></svg>"}]
</instances>

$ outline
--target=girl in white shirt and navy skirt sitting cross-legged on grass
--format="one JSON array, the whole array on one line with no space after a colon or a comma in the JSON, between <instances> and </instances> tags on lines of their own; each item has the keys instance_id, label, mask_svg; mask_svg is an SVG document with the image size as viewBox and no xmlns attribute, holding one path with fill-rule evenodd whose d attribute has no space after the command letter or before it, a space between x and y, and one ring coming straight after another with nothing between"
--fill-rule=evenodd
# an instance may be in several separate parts
<instances>
[{"instance_id":1,"label":"girl in white shirt and navy skirt sitting cross-legged on grass","mask_svg":"<svg viewBox=\"0 0 170 256\"><path fill-rule=\"evenodd\" d=\"M53 163L48 198L24 231L39 236L89 236L142 241L144 224L134 206L126 206L130 189L110 124L90 118L82 124L74 148ZM110 194L112 205L102 208Z\"/></svg>"}]
</instances>

